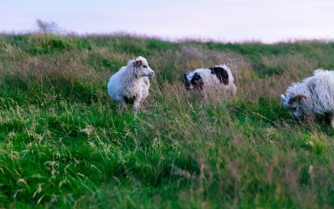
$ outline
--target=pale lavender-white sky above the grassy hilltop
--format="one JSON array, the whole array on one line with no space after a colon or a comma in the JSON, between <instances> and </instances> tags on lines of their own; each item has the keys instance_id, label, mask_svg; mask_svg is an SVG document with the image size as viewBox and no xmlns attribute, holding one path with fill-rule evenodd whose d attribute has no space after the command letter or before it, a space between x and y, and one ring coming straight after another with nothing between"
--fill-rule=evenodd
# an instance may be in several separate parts
<instances>
[{"instance_id":1,"label":"pale lavender-white sky above the grassy hilltop","mask_svg":"<svg viewBox=\"0 0 334 209\"><path fill-rule=\"evenodd\" d=\"M0 0L0 31L36 19L79 34L128 33L217 41L334 39L334 0Z\"/></svg>"}]
</instances>

